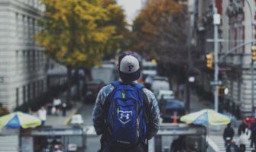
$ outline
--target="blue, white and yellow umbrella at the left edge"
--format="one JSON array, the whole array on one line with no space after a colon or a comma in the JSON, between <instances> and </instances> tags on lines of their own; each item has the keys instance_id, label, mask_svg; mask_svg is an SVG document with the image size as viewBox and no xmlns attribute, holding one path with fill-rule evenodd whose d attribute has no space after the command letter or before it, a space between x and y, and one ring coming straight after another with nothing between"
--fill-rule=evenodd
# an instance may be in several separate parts
<instances>
[{"instance_id":1,"label":"blue, white and yellow umbrella at the left edge","mask_svg":"<svg viewBox=\"0 0 256 152\"><path fill-rule=\"evenodd\" d=\"M41 119L24 112L12 112L0 117L0 128L34 128L41 125Z\"/></svg>"}]
</instances>

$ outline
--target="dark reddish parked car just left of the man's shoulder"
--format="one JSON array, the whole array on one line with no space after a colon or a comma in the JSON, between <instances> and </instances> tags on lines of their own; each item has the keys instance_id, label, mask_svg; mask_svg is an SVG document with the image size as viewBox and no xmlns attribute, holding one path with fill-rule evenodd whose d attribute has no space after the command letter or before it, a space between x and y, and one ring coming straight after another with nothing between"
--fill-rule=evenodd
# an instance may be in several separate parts
<instances>
[{"instance_id":1,"label":"dark reddish parked car just left of the man's shoulder","mask_svg":"<svg viewBox=\"0 0 256 152\"><path fill-rule=\"evenodd\" d=\"M85 102L94 102L99 90L101 90L104 85L105 83L102 80L87 81Z\"/></svg>"}]
</instances>

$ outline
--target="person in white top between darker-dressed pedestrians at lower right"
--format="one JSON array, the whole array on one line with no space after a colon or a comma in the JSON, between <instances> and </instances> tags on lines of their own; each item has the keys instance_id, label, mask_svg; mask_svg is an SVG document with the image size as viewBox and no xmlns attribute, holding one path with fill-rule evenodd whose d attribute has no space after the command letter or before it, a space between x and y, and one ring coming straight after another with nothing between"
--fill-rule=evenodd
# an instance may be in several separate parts
<instances>
[{"instance_id":1,"label":"person in white top between darker-dressed pedestrians at lower right","mask_svg":"<svg viewBox=\"0 0 256 152\"><path fill-rule=\"evenodd\" d=\"M246 143L248 142L248 125L245 119L242 119L241 124L238 128L238 136L239 136L239 149L241 151L246 150Z\"/></svg>"}]
</instances>

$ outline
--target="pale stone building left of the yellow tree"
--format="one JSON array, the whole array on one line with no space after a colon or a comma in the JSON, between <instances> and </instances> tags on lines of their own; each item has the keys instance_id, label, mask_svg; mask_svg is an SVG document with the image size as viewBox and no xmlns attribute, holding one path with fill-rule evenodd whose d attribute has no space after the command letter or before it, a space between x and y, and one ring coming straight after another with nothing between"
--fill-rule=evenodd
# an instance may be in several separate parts
<instances>
[{"instance_id":1,"label":"pale stone building left of the yellow tree","mask_svg":"<svg viewBox=\"0 0 256 152\"><path fill-rule=\"evenodd\" d=\"M47 59L34 34L40 0L0 0L0 102L13 110L47 90Z\"/></svg>"}]
</instances>

